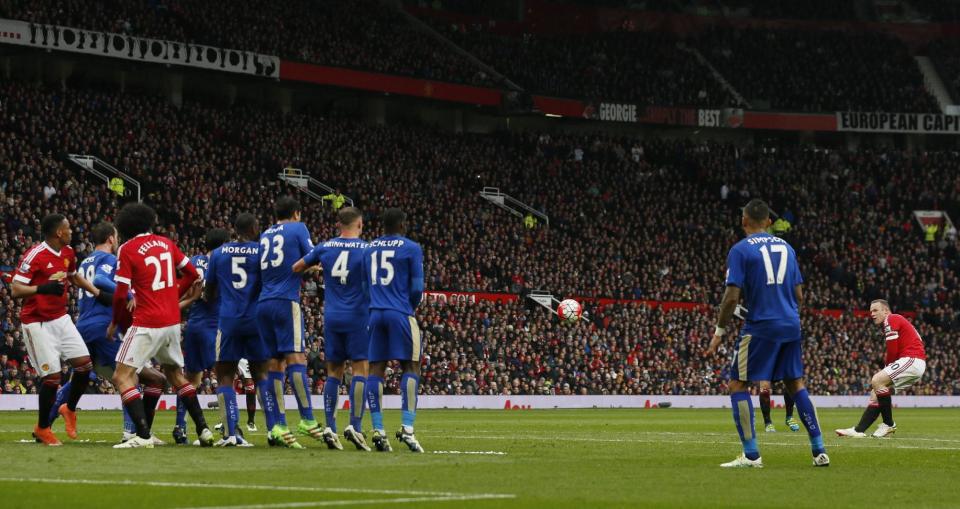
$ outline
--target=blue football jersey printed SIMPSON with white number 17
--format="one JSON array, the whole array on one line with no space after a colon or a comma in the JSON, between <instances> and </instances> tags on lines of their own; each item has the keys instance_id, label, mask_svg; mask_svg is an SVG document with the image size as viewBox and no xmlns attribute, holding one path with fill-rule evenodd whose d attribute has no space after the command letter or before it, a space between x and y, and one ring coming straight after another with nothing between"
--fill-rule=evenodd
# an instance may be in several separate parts
<instances>
[{"instance_id":1,"label":"blue football jersey printed SIMPSON with white number 17","mask_svg":"<svg viewBox=\"0 0 960 509\"><path fill-rule=\"evenodd\" d=\"M727 255L727 285L742 291L747 316L743 332L771 341L801 339L794 288L803 283L790 244L768 233L737 242Z\"/></svg>"}]
</instances>

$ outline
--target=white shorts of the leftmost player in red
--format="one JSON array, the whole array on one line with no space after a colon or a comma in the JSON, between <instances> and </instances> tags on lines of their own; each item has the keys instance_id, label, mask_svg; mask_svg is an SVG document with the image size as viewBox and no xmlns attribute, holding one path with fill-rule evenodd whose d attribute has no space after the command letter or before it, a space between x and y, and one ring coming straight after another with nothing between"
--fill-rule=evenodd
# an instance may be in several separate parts
<instances>
[{"instance_id":1,"label":"white shorts of the leftmost player in red","mask_svg":"<svg viewBox=\"0 0 960 509\"><path fill-rule=\"evenodd\" d=\"M61 361L90 355L70 315L49 322L26 323L20 327L27 343L30 364L40 377L59 373Z\"/></svg>"}]
</instances>

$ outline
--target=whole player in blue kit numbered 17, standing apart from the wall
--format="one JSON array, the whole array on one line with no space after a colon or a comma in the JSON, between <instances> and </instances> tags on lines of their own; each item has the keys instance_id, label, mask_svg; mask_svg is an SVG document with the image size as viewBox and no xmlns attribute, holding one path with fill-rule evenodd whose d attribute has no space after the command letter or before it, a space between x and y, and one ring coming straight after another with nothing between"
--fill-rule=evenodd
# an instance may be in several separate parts
<instances>
[{"instance_id":1,"label":"whole player in blue kit numbered 17, standing apart from the wall","mask_svg":"<svg viewBox=\"0 0 960 509\"><path fill-rule=\"evenodd\" d=\"M750 382L765 380L783 380L810 435L813 465L829 466L817 413L803 385L799 312L803 303L803 276L796 254L786 241L766 233L770 226L770 208L762 200L751 200L743 208L741 225L747 236L730 248L727 255L727 288L713 340L705 352L707 356L717 352L743 293L750 311L733 349L728 386L733 422L740 434L743 453L720 466L763 467L757 448L753 401L747 389Z\"/></svg>"}]
</instances>

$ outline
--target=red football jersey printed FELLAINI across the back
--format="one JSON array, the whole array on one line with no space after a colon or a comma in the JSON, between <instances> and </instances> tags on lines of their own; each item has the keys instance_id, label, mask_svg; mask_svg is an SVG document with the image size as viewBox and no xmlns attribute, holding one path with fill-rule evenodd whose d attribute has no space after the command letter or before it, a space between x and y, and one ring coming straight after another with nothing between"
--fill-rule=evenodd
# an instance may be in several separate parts
<instances>
[{"instance_id":1,"label":"red football jersey printed FELLAINI across the back","mask_svg":"<svg viewBox=\"0 0 960 509\"><path fill-rule=\"evenodd\" d=\"M133 289L133 326L158 329L180 323L177 270L189 263L177 245L161 235L144 233L120 246L114 280Z\"/></svg>"}]
</instances>

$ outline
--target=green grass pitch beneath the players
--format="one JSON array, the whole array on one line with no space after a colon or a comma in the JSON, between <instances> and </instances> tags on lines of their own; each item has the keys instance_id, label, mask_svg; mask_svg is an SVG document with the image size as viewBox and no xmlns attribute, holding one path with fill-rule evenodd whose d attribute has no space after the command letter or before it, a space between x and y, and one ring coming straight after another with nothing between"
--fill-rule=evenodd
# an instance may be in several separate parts
<instances>
[{"instance_id":1,"label":"green grass pitch beneath the players","mask_svg":"<svg viewBox=\"0 0 960 509\"><path fill-rule=\"evenodd\" d=\"M832 430L859 414L825 409L820 418ZM347 443L342 452L317 443L278 450L262 433L250 449L118 451L110 448L118 412L81 413L81 439L90 442L47 448L20 442L34 413L0 412L0 507L957 506L960 410L898 409L900 429L888 440L831 432L826 469L811 466L806 434L789 432L782 416L775 410L778 433L759 432L765 468L731 471L718 467L739 453L728 410L427 410L417 421L425 455L395 440L392 454ZM386 419L392 429L399 416ZM161 438L172 424L172 412L158 416ZM504 498L482 498L493 496Z\"/></svg>"}]
</instances>

